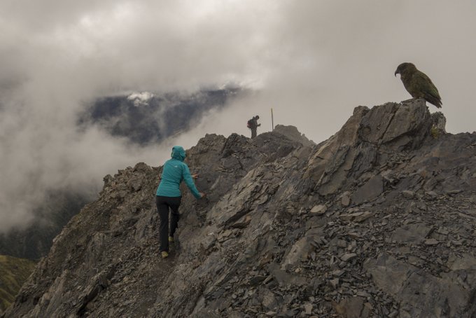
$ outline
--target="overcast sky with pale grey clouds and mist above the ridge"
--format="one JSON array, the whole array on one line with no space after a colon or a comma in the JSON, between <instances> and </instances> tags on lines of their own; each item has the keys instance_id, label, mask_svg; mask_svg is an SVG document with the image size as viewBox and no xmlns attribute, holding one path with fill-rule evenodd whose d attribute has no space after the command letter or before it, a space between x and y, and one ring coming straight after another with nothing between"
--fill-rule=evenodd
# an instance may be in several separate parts
<instances>
[{"instance_id":1,"label":"overcast sky with pale grey clouds and mist above the ridge","mask_svg":"<svg viewBox=\"0 0 476 318\"><path fill-rule=\"evenodd\" d=\"M410 98L401 62L440 90L449 132L476 130L475 1L2 0L0 29L0 231L31 219L45 188L162 165L205 133L248 135L255 114L271 130L271 107L275 124L323 141L356 106ZM98 96L229 83L255 93L163 147L75 125Z\"/></svg>"}]
</instances>

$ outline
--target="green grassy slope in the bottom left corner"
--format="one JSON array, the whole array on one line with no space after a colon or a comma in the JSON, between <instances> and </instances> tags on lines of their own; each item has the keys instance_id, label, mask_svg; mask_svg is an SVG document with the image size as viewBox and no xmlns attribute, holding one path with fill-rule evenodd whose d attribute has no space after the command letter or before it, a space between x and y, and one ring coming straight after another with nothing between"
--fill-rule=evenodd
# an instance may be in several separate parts
<instances>
[{"instance_id":1,"label":"green grassy slope in the bottom left corner","mask_svg":"<svg viewBox=\"0 0 476 318\"><path fill-rule=\"evenodd\" d=\"M0 255L0 312L13 302L35 265L28 259Z\"/></svg>"}]
</instances>

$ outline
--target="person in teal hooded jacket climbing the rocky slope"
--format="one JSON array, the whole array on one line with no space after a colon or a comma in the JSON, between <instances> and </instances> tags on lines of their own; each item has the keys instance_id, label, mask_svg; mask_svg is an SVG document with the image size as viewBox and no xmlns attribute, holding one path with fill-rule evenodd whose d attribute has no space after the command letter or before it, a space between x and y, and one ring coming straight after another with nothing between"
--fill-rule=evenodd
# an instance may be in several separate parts
<instances>
[{"instance_id":1,"label":"person in teal hooded jacket climbing the rocky slope","mask_svg":"<svg viewBox=\"0 0 476 318\"><path fill-rule=\"evenodd\" d=\"M190 192L195 198L200 199L205 195L195 187L193 179L197 174L190 174L188 165L183 162L186 157L185 150L181 146L172 147L172 159L165 162L162 170L162 178L157 188L155 205L160 215L160 252L162 258L169 256L169 242L174 242L174 233L179 226L179 206L182 198L180 184L184 180ZM169 233L169 208L172 210Z\"/></svg>"}]
</instances>

